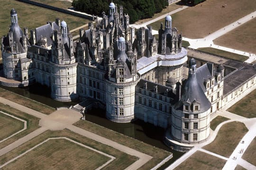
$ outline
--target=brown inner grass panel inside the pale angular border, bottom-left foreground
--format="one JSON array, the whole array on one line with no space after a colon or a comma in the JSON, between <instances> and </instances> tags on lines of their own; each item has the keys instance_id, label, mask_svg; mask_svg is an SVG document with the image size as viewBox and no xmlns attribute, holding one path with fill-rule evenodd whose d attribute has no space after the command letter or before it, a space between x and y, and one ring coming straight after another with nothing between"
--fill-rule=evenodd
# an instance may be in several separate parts
<instances>
[{"instance_id":1,"label":"brown inner grass panel inside the pale angular border, bottom-left foreground","mask_svg":"<svg viewBox=\"0 0 256 170\"><path fill-rule=\"evenodd\" d=\"M25 170L95 170L110 158L66 139L51 139L26 153L3 170L23 165Z\"/></svg>"}]
</instances>

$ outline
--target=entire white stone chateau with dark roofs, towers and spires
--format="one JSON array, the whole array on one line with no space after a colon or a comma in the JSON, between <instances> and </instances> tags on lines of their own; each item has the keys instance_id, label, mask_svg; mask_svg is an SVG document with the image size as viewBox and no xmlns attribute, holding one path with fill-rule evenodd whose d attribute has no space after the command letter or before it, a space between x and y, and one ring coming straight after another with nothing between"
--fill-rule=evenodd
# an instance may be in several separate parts
<instances>
[{"instance_id":1,"label":"entire white stone chateau with dark roofs, towers and spires","mask_svg":"<svg viewBox=\"0 0 256 170\"><path fill-rule=\"evenodd\" d=\"M207 140L210 115L256 85L252 65L225 75L222 64L197 67L196 59L188 60L171 16L165 17L157 40L151 27L130 27L122 6L118 10L111 2L109 14L103 12L101 21L81 29L76 42L65 21L37 27L29 37L28 29L18 26L15 9L10 17L9 33L1 39L3 73L19 83L1 85L37 82L63 102L94 98L106 106L111 121L142 119L166 128L168 145L176 141L182 148ZM250 76L232 86L230 75L243 70Z\"/></svg>"}]
</instances>

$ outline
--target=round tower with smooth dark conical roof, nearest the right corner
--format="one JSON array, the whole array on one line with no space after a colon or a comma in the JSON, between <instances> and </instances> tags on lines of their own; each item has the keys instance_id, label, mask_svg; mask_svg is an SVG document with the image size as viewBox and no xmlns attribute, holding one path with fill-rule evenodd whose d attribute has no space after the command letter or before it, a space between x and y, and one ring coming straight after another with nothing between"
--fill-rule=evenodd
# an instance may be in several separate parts
<instances>
[{"instance_id":1,"label":"round tower with smooth dark conical roof, nearest the right corner","mask_svg":"<svg viewBox=\"0 0 256 170\"><path fill-rule=\"evenodd\" d=\"M180 143L205 141L210 135L210 101L196 78L196 61L189 61L189 76L172 109L171 136ZM167 132L168 133L168 132Z\"/></svg>"}]
</instances>

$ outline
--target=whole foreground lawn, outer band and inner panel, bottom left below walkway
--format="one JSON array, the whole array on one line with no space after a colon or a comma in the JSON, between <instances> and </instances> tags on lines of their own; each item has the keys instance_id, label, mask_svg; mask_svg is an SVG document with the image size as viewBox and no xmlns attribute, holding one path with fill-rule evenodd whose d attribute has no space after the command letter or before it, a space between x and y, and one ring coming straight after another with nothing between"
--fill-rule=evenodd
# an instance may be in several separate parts
<instances>
[{"instance_id":1,"label":"whole foreground lawn, outer band and inner panel, bottom left below walkway","mask_svg":"<svg viewBox=\"0 0 256 170\"><path fill-rule=\"evenodd\" d=\"M85 136L78 135L76 133L73 133L70 130L64 129L60 131L46 131L37 137L29 140L25 144L22 144L18 146L17 148L13 149L12 151L0 156L0 164L3 164L15 157L17 157L19 154L26 152L28 149L34 147L37 144L40 144L41 142L45 141L46 139L50 137L67 137L70 138L76 142L79 142L81 144L87 145L91 148L94 148L98 151L101 151L103 153L107 153L111 156L116 157L116 159L107 166L103 168L103 170L123 170L127 168L130 164L137 161L137 157L129 155L127 153L120 152L119 150L116 150L108 145L101 144L97 141L94 141L92 139L89 139ZM17 160L12 163L11 167L7 168L9 170L13 170L13 167L30 167L30 163L33 167L31 170L81 170L81 169L87 169L86 167L89 167L88 169L95 169L93 167L90 168L90 164L94 164L96 166L102 165L102 161L99 159L104 159L102 157L95 157L95 153L91 154L91 152L88 152L88 150L82 149L81 146L77 146L73 143L66 143L66 141L62 141L64 143L61 143L61 141L53 141L56 144L46 144L42 145L42 147L39 147L35 150L35 152L30 153L28 155L23 155L21 160ZM81 152L82 150L82 152ZM50 151L50 152L49 152ZM53 152L51 152L53 151ZM84 152L84 153L83 153ZM95 156L94 156L95 155ZM63 159L71 159L71 160L63 160ZM108 158L108 157L107 157ZM87 160L89 159L89 160ZM31 160L31 161L30 161ZM37 162L37 161L44 161L44 162ZM64 165L61 165L59 163L64 163ZM28 165L27 165L28 164ZM42 166L44 167L42 167ZM82 167L83 166L83 167ZM24 168L26 169L26 168ZM30 168L29 168L30 169ZM27 170L27 169L26 169Z\"/></svg>"}]
</instances>

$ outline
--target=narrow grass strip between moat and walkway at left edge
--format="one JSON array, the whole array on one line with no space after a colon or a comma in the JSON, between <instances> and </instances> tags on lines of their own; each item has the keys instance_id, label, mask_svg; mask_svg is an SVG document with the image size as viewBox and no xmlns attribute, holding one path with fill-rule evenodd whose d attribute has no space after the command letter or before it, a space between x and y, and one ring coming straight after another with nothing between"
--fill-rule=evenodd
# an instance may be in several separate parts
<instances>
[{"instance_id":1,"label":"narrow grass strip between moat and walkway at left edge","mask_svg":"<svg viewBox=\"0 0 256 170\"><path fill-rule=\"evenodd\" d=\"M50 106L46 106L40 102L33 101L31 99L28 99L24 96L18 95L16 93L10 92L8 90L5 90L3 88L0 88L1 97L6 98L10 101L17 102L18 104L21 104L23 106L26 106L30 109L40 111L41 113L45 114L51 114L55 111L54 108Z\"/></svg>"}]
</instances>

